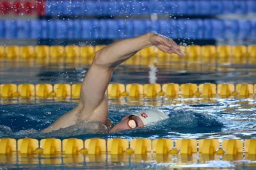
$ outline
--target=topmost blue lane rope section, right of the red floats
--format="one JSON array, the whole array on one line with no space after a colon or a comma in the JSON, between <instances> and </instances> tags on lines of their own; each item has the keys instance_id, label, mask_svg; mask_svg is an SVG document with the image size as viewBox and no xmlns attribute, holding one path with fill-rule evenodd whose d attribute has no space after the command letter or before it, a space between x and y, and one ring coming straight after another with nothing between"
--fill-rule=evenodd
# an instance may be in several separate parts
<instances>
[{"instance_id":1,"label":"topmost blue lane rope section, right of the red floats","mask_svg":"<svg viewBox=\"0 0 256 170\"><path fill-rule=\"evenodd\" d=\"M253 0L47 1L50 16L220 15L256 13Z\"/></svg>"}]
</instances>

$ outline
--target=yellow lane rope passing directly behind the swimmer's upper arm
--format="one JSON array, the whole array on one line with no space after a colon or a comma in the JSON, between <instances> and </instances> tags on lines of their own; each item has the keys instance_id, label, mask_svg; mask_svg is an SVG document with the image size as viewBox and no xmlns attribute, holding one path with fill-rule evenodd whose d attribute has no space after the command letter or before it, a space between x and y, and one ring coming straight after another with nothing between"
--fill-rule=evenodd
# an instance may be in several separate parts
<instances>
[{"instance_id":1,"label":"yellow lane rope passing directly behind the swimmer's upper arm","mask_svg":"<svg viewBox=\"0 0 256 170\"><path fill-rule=\"evenodd\" d=\"M0 98L79 98L81 84L1 84ZM256 95L256 84L109 84L109 98L207 97L250 98Z\"/></svg>"}]
</instances>

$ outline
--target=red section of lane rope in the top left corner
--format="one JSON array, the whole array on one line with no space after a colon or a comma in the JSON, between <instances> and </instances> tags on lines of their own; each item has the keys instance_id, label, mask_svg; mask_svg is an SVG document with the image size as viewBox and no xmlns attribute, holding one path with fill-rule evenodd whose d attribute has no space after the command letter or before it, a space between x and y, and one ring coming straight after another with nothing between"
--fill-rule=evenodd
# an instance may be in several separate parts
<instances>
[{"instance_id":1,"label":"red section of lane rope in the top left corner","mask_svg":"<svg viewBox=\"0 0 256 170\"><path fill-rule=\"evenodd\" d=\"M0 1L0 15L45 15L45 2L39 1Z\"/></svg>"}]
</instances>

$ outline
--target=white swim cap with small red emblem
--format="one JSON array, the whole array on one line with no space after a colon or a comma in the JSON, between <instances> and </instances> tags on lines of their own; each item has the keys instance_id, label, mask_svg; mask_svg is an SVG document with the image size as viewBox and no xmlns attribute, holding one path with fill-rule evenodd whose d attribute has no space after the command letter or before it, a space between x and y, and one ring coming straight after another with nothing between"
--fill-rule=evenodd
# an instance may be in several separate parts
<instances>
[{"instance_id":1,"label":"white swim cap with small red emblem","mask_svg":"<svg viewBox=\"0 0 256 170\"><path fill-rule=\"evenodd\" d=\"M160 120L166 120L169 118L169 116L166 115L163 111L157 109L143 110L136 113L132 113L131 115L138 116L144 123L144 125Z\"/></svg>"}]
</instances>

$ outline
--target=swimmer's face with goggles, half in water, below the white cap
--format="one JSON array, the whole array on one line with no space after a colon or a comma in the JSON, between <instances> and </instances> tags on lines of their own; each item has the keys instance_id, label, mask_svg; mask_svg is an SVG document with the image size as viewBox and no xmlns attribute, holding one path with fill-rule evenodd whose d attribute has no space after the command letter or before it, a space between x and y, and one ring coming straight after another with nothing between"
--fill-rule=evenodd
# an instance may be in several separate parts
<instances>
[{"instance_id":1,"label":"swimmer's face with goggles, half in water, below the white cap","mask_svg":"<svg viewBox=\"0 0 256 170\"><path fill-rule=\"evenodd\" d=\"M117 123L110 132L120 132L122 130L128 130L131 128L143 127L144 124L138 116L125 116L122 121Z\"/></svg>"}]
</instances>

